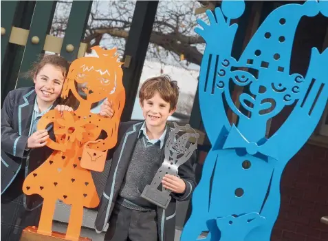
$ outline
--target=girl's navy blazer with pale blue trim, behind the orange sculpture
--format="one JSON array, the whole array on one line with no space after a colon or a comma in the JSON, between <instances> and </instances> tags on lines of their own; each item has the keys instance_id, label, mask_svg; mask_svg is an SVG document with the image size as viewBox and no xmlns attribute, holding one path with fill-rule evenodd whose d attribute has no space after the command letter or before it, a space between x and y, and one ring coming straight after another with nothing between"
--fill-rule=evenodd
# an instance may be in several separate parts
<instances>
[{"instance_id":1,"label":"girl's navy blazer with pale blue trim, behind the orange sculpture","mask_svg":"<svg viewBox=\"0 0 328 241\"><path fill-rule=\"evenodd\" d=\"M36 92L34 87L24 87L8 93L1 109L1 194L10 187L21 169L25 176L39 167L52 154L49 147L25 151L28 143ZM56 103L52 105L52 108ZM50 138L54 140L52 129ZM29 163L26 157L30 155ZM9 191L9 190L8 190ZM39 195L24 198L24 206L33 209L41 204Z\"/></svg>"}]
</instances>

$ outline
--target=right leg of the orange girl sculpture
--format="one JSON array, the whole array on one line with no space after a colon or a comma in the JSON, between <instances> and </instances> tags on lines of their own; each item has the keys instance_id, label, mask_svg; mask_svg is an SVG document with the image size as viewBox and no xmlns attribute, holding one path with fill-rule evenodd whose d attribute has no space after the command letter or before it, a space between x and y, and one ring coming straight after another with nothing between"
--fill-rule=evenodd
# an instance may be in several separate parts
<instances>
[{"instance_id":1,"label":"right leg of the orange girl sculpture","mask_svg":"<svg viewBox=\"0 0 328 241\"><path fill-rule=\"evenodd\" d=\"M69 216L66 232L67 240L78 240L83 221L83 205L72 204L71 215Z\"/></svg>"}]
</instances>

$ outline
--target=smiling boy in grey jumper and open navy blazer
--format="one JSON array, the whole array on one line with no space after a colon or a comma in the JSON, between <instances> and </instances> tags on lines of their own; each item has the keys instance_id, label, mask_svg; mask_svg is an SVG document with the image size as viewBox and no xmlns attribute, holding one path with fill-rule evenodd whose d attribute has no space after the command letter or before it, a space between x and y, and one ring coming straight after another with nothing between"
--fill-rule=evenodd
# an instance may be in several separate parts
<instances>
[{"instance_id":1,"label":"smiling boy in grey jumper and open navy blazer","mask_svg":"<svg viewBox=\"0 0 328 241\"><path fill-rule=\"evenodd\" d=\"M164 161L164 146L170 132L166 121L175 112L178 96L176 81L168 76L150 78L139 92L145 121L120 124L118 144L109 155L111 169L95 222L97 232L103 231L109 222L105 240L174 240L176 200L188 200L196 185L195 153L179 167L179 177L163 178L163 187L170 189L173 196L166 210L140 195Z\"/></svg>"}]
</instances>

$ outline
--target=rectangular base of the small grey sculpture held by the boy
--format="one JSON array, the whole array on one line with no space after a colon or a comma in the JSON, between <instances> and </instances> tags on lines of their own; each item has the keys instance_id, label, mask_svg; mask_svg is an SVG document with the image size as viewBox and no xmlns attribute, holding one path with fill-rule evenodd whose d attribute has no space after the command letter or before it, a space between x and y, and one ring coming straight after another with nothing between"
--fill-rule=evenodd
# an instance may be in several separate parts
<instances>
[{"instance_id":1,"label":"rectangular base of the small grey sculpture held by the boy","mask_svg":"<svg viewBox=\"0 0 328 241\"><path fill-rule=\"evenodd\" d=\"M144 191L142 191L141 197L158 207L162 207L162 209L166 209L171 201L171 196L167 195L167 193L158 189L153 189L149 185L146 185Z\"/></svg>"}]
</instances>

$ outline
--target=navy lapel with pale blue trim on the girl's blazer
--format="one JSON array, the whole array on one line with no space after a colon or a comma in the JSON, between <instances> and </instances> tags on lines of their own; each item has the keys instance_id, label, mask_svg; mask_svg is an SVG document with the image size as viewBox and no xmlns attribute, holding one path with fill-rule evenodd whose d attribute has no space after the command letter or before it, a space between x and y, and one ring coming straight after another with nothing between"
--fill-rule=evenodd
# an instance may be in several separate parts
<instances>
[{"instance_id":1,"label":"navy lapel with pale blue trim on the girl's blazer","mask_svg":"<svg viewBox=\"0 0 328 241\"><path fill-rule=\"evenodd\" d=\"M36 93L34 90L23 96L23 103L19 105L19 135L28 136L30 132L31 118L33 114L34 100Z\"/></svg>"}]
</instances>

